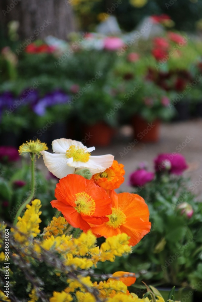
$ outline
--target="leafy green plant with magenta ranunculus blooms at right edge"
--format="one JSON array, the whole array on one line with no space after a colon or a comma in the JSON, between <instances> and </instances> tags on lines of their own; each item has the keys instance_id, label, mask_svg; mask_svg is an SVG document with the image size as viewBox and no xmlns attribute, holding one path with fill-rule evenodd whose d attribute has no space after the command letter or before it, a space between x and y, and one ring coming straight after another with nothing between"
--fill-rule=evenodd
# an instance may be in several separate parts
<instances>
[{"instance_id":1,"label":"leafy green plant with magenta ranunculus blooms at right edge","mask_svg":"<svg viewBox=\"0 0 202 302\"><path fill-rule=\"evenodd\" d=\"M202 204L192 193L194 187L181 176L187 168L180 154L161 154L155 160L155 171L145 169L135 171L130 176L134 193L147 200L150 209L152 230L139 246L134 247L132 265L144 262L147 272L141 280L150 280L156 286L178 287L177 299L189 291L201 291L196 288L201 276L201 233ZM198 282L197 282L198 281ZM180 290L181 288L181 290ZM159 288L162 295L163 290ZM166 293L167 294L167 293ZM187 301L192 301L188 294Z\"/></svg>"}]
</instances>

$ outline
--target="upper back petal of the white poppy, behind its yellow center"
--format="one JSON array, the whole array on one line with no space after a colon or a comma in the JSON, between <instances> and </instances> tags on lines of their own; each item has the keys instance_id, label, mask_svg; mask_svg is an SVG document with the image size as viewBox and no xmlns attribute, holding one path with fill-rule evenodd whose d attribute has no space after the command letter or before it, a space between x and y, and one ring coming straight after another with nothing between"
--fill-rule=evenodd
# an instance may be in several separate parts
<instances>
[{"instance_id":1,"label":"upper back petal of the white poppy, behind its yellow center","mask_svg":"<svg viewBox=\"0 0 202 302\"><path fill-rule=\"evenodd\" d=\"M71 145L88 150L88 148L86 146L84 146L81 142L78 142L77 140L71 140L70 138L69 139L68 138L58 138L57 140L52 141L53 152L59 152L59 153L65 154L67 149L69 149L69 147ZM92 148L94 148L94 147L92 147ZM93 150L95 150L95 149L93 149ZM91 151L89 151L89 152L91 152Z\"/></svg>"}]
</instances>

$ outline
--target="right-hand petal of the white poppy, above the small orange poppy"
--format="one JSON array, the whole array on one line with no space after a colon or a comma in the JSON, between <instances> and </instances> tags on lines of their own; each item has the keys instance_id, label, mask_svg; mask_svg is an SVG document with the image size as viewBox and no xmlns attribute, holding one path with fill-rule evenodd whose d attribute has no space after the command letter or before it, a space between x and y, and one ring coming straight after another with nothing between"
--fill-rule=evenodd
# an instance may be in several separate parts
<instances>
[{"instance_id":1,"label":"right-hand petal of the white poppy, above the small orange poppy","mask_svg":"<svg viewBox=\"0 0 202 302\"><path fill-rule=\"evenodd\" d=\"M90 156L88 162L68 161L67 164L75 168L88 168L92 174L101 173L111 167L114 156L111 154Z\"/></svg>"}]
</instances>

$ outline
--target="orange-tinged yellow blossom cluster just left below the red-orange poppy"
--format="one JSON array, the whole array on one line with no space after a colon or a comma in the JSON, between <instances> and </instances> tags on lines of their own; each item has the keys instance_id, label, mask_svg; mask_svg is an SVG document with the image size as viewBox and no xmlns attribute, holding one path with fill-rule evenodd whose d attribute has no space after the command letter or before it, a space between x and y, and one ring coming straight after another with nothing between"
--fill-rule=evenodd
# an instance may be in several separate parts
<instances>
[{"instance_id":1,"label":"orange-tinged yellow blossom cluster just left below the red-orange poppy","mask_svg":"<svg viewBox=\"0 0 202 302\"><path fill-rule=\"evenodd\" d=\"M44 239L50 236L58 236L58 234L63 234L63 230L67 228L68 222L64 217L59 216L58 218L53 217L51 223L48 224L46 228L44 228L43 236Z\"/></svg>"}]
</instances>

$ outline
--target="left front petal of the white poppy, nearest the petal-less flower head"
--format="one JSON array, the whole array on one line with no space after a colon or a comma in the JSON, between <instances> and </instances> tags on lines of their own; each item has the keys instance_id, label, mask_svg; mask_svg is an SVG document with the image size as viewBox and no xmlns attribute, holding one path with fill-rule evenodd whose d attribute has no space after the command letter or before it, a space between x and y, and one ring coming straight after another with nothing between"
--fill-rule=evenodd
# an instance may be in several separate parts
<instances>
[{"instance_id":1,"label":"left front petal of the white poppy, nearest the petal-less flower head","mask_svg":"<svg viewBox=\"0 0 202 302\"><path fill-rule=\"evenodd\" d=\"M75 167L67 165L67 158L64 154L53 154L41 151L44 163L48 170L58 178L63 178L75 172Z\"/></svg>"}]
</instances>

